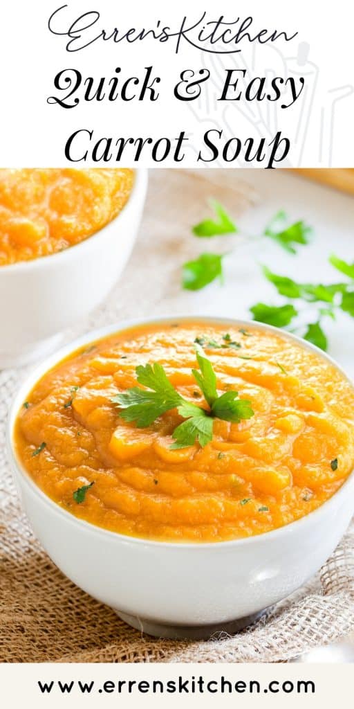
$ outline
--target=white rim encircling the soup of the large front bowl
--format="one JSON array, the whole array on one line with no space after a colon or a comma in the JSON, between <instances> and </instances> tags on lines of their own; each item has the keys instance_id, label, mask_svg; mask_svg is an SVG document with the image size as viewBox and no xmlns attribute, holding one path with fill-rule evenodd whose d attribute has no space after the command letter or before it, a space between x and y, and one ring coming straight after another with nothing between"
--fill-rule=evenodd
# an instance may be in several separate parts
<instances>
[{"instance_id":1,"label":"white rim encircling the soup of the large front bowl","mask_svg":"<svg viewBox=\"0 0 354 709\"><path fill-rule=\"evenodd\" d=\"M323 352L323 350L320 350L319 347L316 347L316 345L312 345L311 342L302 340L302 338L297 337L297 335L294 335L293 333L288 333L285 330L280 330L280 328L275 328L273 325L258 323L256 320L244 320L242 318L227 318L221 316L203 316L198 315L198 313L188 316L181 315L181 313L172 313L169 316L165 315L147 318L129 318L127 320L122 320L122 322L120 323L114 323L113 325L105 325L102 328L90 330L89 333L76 337L74 340L72 340L72 342L67 343L66 345L64 345L64 347L61 347L59 350L57 350L57 352L52 353L50 357L47 357L45 360L43 360L43 362L41 362L38 367L35 367L35 369L31 370L30 374L25 377L25 380L22 382L21 386L16 391L16 395L14 396L11 406L8 410L8 417L6 421L6 450L8 462L10 463L11 469L13 471L13 476L18 476L18 478L21 479L21 481L23 481L28 486L30 491L35 494L38 500L44 503L45 506L47 506L47 508L49 508L53 514L59 515L59 517L61 517L64 522L66 521L67 523L71 523L72 525L81 528L81 530L91 532L91 534L93 535L97 534L105 538L110 537L110 539L115 539L117 542L131 543L140 546L144 545L149 547L166 547L169 549L219 549L220 547L230 548L245 545L251 546L262 542L266 543L267 540L275 540L279 536L285 536L289 534L291 535L294 530L296 532L296 530L300 530L300 527L304 527L307 524L311 524L312 520L320 518L323 514L323 510L336 508L336 506L341 502L341 499L346 496L348 488L353 486L354 491L353 469L353 471L350 472L341 487L335 493L333 493L333 495L328 500L322 503L321 506L319 506L315 510L312 510L307 515L304 515L303 517L300 517L299 519L288 523L287 525L282 525L282 527L276 527L274 530L262 532L259 535L252 535L251 537L241 537L234 540L215 542L164 542L159 540L149 540L145 539L144 537L123 535L120 532L113 532L112 530L105 529L105 527L100 527L91 522L87 522L86 520L82 520L81 518L76 517L69 511L64 510L64 508L59 506L55 501L52 500L52 498L47 496L37 484L35 484L35 481L33 481L33 479L28 474L28 471L19 461L15 452L15 447L13 445L14 425L16 423L18 412L21 411L21 406L23 401L25 401L26 393L33 389L35 383L39 381L39 379L41 379L42 376L44 376L47 372L50 372L50 369L59 364L62 359L69 356L69 354L71 354L72 352L75 352L75 350L78 350L84 345L89 345L91 342L101 340L107 335L113 335L114 333L122 333L125 330L130 330L131 328L135 328L139 325L154 325L159 323L163 325L164 323L168 324L177 321L181 322L193 320L198 320L200 322L205 323L219 323L233 326L236 325L244 327L245 329L257 328L260 330L264 330L265 332L269 331L275 333L276 335L283 337L285 340L296 342L305 350L309 350L310 352L315 352L316 354L318 354L319 357L325 359L326 362L329 362L329 364L335 367L338 372L340 372L347 379L349 384L353 386L353 381L350 376L346 374L345 370L339 364L337 364L337 362L329 354Z\"/></svg>"}]
</instances>

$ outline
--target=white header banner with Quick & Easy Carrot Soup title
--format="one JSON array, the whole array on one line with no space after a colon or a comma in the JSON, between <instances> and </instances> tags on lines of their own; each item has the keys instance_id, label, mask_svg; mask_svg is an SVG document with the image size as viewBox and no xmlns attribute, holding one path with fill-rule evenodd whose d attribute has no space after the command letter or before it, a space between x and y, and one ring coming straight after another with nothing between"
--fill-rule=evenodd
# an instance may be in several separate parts
<instances>
[{"instance_id":1,"label":"white header banner with Quick & Easy Carrot Soup title","mask_svg":"<svg viewBox=\"0 0 354 709\"><path fill-rule=\"evenodd\" d=\"M351 167L353 7L11 0L3 167Z\"/></svg>"}]
</instances>

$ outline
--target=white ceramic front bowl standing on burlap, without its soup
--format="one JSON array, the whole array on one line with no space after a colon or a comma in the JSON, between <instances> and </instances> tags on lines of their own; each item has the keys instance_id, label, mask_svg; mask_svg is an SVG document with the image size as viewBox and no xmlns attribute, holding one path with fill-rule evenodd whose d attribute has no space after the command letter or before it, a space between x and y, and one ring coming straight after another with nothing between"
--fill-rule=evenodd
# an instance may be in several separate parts
<instances>
[{"instance_id":1,"label":"white ceramic front bowl standing on burlap, without its soup","mask_svg":"<svg viewBox=\"0 0 354 709\"><path fill-rule=\"evenodd\" d=\"M153 322L171 320L188 318L173 316ZM245 328L256 324L225 318L198 320ZM326 561L353 514L354 474L329 501L302 519L273 532L229 542L145 541L108 532L57 506L30 479L13 452L18 410L36 381L67 354L137 324L120 323L81 337L47 359L25 381L8 418L13 475L33 530L55 564L84 591L115 608L121 618L159 637L231 632L302 586ZM280 334L268 325L257 325ZM313 345L282 334L335 364Z\"/></svg>"}]
</instances>

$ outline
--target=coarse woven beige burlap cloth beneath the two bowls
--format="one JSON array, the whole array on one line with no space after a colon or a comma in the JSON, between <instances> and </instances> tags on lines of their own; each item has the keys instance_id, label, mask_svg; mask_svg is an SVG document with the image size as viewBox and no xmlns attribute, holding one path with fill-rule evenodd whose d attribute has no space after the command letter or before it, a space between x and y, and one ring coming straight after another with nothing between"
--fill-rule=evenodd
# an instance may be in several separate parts
<instances>
[{"instance_id":1,"label":"coarse woven beige burlap cloth beneath the two bowls","mask_svg":"<svg viewBox=\"0 0 354 709\"><path fill-rule=\"evenodd\" d=\"M193 310L193 296L179 286L181 262L200 250L200 242L190 237L190 224L205 213L210 194L241 213L256 199L243 179L238 170L153 171L130 264L109 301L80 331L128 316ZM25 369L0 372L1 661L286 661L354 630L353 528L305 588L235 637L154 640L74 586L33 536L6 462L6 412L25 374Z\"/></svg>"}]
</instances>

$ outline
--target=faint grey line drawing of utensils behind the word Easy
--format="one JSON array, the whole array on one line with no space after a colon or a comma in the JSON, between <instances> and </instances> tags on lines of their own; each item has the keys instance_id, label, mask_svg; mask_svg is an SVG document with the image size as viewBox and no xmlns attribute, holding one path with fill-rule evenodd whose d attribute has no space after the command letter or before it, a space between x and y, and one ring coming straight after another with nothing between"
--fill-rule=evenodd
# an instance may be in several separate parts
<instances>
[{"instance_id":1,"label":"faint grey line drawing of utensils behind the word Easy","mask_svg":"<svg viewBox=\"0 0 354 709\"><path fill-rule=\"evenodd\" d=\"M336 106L338 101L353 94L354 86L346 84L327 89L319 66L309 58L310 50L309 43L300 42L297 54L285 57L274 45L253 45L247 55L249 62L246 52L208 55L200 52L201 66L210 70L210 80L202 87L198 99L188 103L188 109L196 121L205 126L205 130L222 130L224 140L235 135L253 135L255 138L265 138L269 143L278 130L282 130L284 135L292 135L291 157L282 163L283 167L300 167L305 148L311 147L311 143L317 161L324 167L331 167ZM244 101L242 98L222 104L218 99L227 69L246 69L245 77L241 72L235 75L235 79L238 78L237 87L243 94L250 79L257 76L264 76L267 84L274 77L285 80L288 77L304 77L304 88L299 99L289 108L281 108L281 101ZM284 96L291 98L288 86ZM253 128L253 131L244 133L246 126ZM198 152L196 145L192 149ZM234 162L237 167L252 167L252 162L246 162L241 155ZM212 164L221 167L224 161L219 156Z\"/></svg>"}]
</instances>

